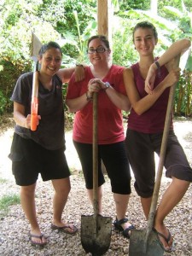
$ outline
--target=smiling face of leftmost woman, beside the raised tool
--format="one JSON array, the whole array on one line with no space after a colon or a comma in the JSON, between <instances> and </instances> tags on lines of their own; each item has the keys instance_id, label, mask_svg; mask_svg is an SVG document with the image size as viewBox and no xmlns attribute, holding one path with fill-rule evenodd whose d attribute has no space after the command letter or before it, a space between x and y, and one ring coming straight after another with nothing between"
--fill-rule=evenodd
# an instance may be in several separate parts
<instances>
[{"instance_id":1,"label":"smiling face of leftmost woman, beside the raised tool","mask_svg":"<svg viewBox=\"0 0 192 256\"><path fill-rule=\"evenodd\" d=\"M41 64L40 72L52 77L61 67L61 50L57 48L47 49L43 55L38 57L38 61Z\"/></svg>"}]
</instances>

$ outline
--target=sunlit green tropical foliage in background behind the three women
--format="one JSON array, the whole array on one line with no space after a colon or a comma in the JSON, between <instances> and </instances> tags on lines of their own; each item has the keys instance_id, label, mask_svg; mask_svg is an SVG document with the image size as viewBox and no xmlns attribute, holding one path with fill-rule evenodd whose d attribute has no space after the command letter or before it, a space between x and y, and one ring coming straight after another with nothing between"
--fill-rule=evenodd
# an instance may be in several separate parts
<instances>
[{"instance_id":1,"label":"sunlit green tropical foliage in background behind the three women","mask_svg":"<svg viewBox=\"0 0 192 256\"><path fill-rule=\"evenodd\" d=\"M113 0L113 62L129 66L137 61L131 29L140 20L154 23L159 32L160 55L178 38L192 38L190 0ZM156 6L156 9L152 7ZM0 114L12 111L9 97L21 73L32 70L32 32L42 43L55 40L63 49L63 67L87 62L87 39L96 34L94 0L2 0L0 3ZM191 56L180 79L175 112L192 115ZM66 90L64 90L64 94Z\"/></svg>"}]
</instances>

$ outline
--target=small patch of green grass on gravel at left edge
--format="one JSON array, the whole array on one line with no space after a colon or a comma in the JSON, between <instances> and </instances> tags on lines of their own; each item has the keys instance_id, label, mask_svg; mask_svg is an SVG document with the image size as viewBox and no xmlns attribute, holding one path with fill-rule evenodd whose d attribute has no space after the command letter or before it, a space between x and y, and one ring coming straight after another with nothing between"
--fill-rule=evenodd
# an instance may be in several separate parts
<instances>
[{"instance_id":1,"label":"small patch of green grass on gravel at left edge","mask_svg":"<svg viewBox=\"0 0 192 256\"><path fill-rule=\"evenodd\" d=\"M0 215L6 215L9 212L9 207L17 204L20 204L19 195L3 195L3 197L0 199Z\"/></svg>"}]
</instances>

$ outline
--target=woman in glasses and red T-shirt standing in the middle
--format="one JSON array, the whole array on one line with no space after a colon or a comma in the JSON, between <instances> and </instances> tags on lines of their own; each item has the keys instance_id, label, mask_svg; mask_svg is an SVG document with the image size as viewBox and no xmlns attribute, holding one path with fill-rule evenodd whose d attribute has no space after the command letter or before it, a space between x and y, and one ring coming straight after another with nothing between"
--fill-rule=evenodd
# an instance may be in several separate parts
<instances>
[{"instance_id":1,"label":"woman in glasses and red T-shirt standing in the middle","mask_svg":"<svg viewBox=\"0 0 192 256\"><path fill-rule=\"evenodd\" d=\"M67 106L75 113L73 124L73 143L79 154L84 172L86 189L93 203L92 175L92 95L98 93L98 202L102 214L102 174L103 161L110 178L113 198L116 206L114 227L130 236L133 226L125 218L125 212L131 194L131 174L125 151L125 133L121 109L129 111L131 105L126 96L123 82L124 67L113 65L111 50L107 38L94 36L88 41L90 67L85 67L84 80L69 81Z\"/></svg>"}]
</instances>

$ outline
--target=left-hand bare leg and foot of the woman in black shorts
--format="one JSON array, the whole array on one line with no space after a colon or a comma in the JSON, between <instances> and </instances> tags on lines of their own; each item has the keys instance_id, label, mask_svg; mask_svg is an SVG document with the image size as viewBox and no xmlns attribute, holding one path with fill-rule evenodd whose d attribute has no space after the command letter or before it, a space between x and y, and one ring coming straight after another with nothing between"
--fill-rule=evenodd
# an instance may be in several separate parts
<instances>
[{"instance_id":1,"label":"left-hand bare leg and foot of the woman in black shorts","mask_svg":"<svg viewBox=\"0 0 192 256\"><path fill-rule=\"evenodd\" d=\"M37 216L36 216L35 188L36 188L36 183L30 186L21 186L20 202L21 202L23 211L26 214L26 218L31 224L31 234L35 236L41 236L41 231L40 231ZM46 239L44 238L44 236L42 237L42 239L32 237L32 241L38 242L38 243L44 243Z\"/></svg>"}]
</instances>

